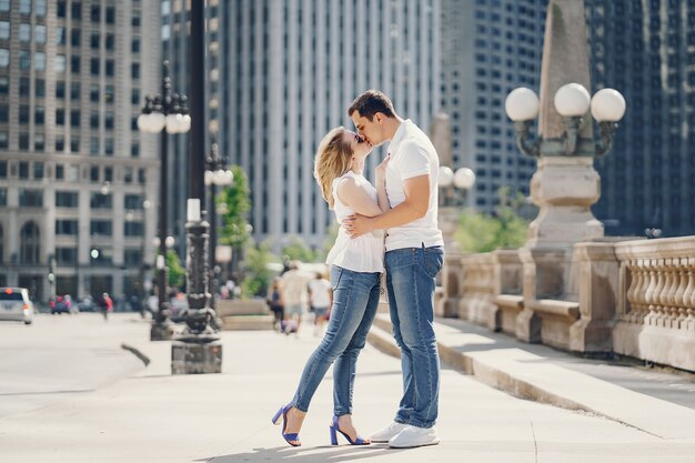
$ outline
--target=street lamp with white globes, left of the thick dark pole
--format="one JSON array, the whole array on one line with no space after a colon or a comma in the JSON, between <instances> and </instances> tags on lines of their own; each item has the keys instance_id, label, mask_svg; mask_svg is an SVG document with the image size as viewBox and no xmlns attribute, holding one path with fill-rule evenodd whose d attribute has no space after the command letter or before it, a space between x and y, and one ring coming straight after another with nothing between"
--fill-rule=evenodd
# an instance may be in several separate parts
<instances>
[{"instance_id":1,"label":"street lamp with white globes, left of the thick dark pole","mask_svg":"<svg viewBox=\"0 0 695 463\"><path fill-rule=\"evenodd\" d=\"M159 189L159 254L157 256L159 310L152 322L152 341L171 339L169 321L169 301L167 299L167 209L168 209L168 153L169 133L184 133L191 128L188 115L187 97L172 92L169 77L169 61L162 66L162 93L147 95L142 113L138 117L138 128L148 133L160 133L160 189Z\"/></svg>"}]
</instances>

